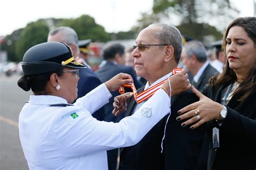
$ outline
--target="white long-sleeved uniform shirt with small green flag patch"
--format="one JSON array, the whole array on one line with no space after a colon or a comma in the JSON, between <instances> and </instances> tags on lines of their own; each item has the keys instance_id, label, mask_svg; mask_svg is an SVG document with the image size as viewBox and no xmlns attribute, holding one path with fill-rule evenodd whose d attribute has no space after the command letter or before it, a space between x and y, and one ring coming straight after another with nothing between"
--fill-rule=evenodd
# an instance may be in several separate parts
<instances>
[{"instance_id":1,"label":"white long-sleeved uniform shirt with small green flag patch","mask_svg":"<svg viewBox=\"0 0 256 170\"><path fill-rule=\"evenodd\" d=\"M30 96L19 115L19 138L30 169L107 169L106 150L138 143L170 111L170 98L158 90L132 116L119 123L91 114L111 97L101 84L73 106L50 95Z\"/></svg>"}]
</instances>

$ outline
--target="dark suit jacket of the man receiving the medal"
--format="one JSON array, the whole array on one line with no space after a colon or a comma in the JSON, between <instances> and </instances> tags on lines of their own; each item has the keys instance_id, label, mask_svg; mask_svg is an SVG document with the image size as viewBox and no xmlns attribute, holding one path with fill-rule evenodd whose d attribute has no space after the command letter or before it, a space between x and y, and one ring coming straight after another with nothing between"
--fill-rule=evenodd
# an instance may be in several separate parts
<instances>
[{"instance_id":1,"label":"dark suit jacket of the man receiving the medal","mask_svg":"<svg viewBox=\"0 0 256 170\"><path fill-rule=\"evenodd\" d=\"M140 88L138 93L144 89ZM161 153L161 140L164 136L167 115L158 122L138 144L121 149L119 169L195 169L204 137L204 126L191 130L181 127L176 121L179 109L198 101L198 97L186 91L172 96L172 114L167 122L164 153ZM132 97L126 116L133 112L136 102Z\"/></svg>"}]
</instances>

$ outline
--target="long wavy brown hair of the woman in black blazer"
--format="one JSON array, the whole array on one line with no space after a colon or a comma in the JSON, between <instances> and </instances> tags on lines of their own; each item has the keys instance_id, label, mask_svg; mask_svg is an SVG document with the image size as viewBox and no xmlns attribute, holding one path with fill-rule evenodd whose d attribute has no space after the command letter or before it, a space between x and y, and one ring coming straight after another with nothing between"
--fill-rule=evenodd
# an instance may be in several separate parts
<instances>
[{"instance_id":1,"label":"long wavy brown hair of the woman in black blazer","mask_svg":"<svg viewBox=\"0 0 256 170\"><path fill-rule=\"evenodd\" d=\"M227 45L227 34L230 31L231 27L240 26L247 33L248 37L254 42L254 48L256 48L256 17L240 17L234 19L230 25L228 25L227 30L223 36L223 54L225 58L226 65L223 69L223 73L220 75L213 76L210 79L210 86L220 86L224 83L231 83L237 80L237 75L234 70L230 68L230 65L227 61L226 55L226 45ZM247 74L245 80L242 81L239 87L234 91L234 95L242 93L244 95L239 98L239 101L244 102L246 98L252 93L256 88L256 66L251 69L251 72Z\"/></svg>"}]
</instances>

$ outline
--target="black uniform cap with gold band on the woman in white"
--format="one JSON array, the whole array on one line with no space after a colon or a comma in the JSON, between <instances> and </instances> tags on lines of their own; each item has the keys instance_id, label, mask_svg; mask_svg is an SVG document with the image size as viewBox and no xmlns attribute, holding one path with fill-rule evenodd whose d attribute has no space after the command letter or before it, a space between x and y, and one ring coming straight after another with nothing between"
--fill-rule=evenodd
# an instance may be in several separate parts
<instances>
[{"instance_id":1,"label":"black uniform cap with gold band on the woman in white","mask_svg":"<svg viewBox=\"0 0 256 170\"><path fill-rule=\"evenodd\" d=\"M44 42L26 51L23 56L24 75L52 72L64 67L86 68L73 58L70 47L62 42Z\"/></svg>"}]
</instances>

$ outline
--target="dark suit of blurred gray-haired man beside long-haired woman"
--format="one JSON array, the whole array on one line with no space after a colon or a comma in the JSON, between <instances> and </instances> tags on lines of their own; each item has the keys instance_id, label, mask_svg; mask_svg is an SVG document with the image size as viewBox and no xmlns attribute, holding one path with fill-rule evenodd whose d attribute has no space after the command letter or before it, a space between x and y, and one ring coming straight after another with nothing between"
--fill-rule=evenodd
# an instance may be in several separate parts
<instances>
[{"instance_id":1,"label":"dark suit of blurred gray-haired man beside long-haired woman","mask_svg":"<svg viewBox=\"0 0 256 170\"><path fill-rule=\"evenodd\" d=\"M191 84L196 88L198 89L199 91L201 91L205 84L207 84L208 80L215 74L215 73L218 73L218 71L212 67L210 65L210 63L207 65L207 67L205 68L203 74L200 76L198 82L194 82L192 81Z\"/></svg>"}]
</instances>

